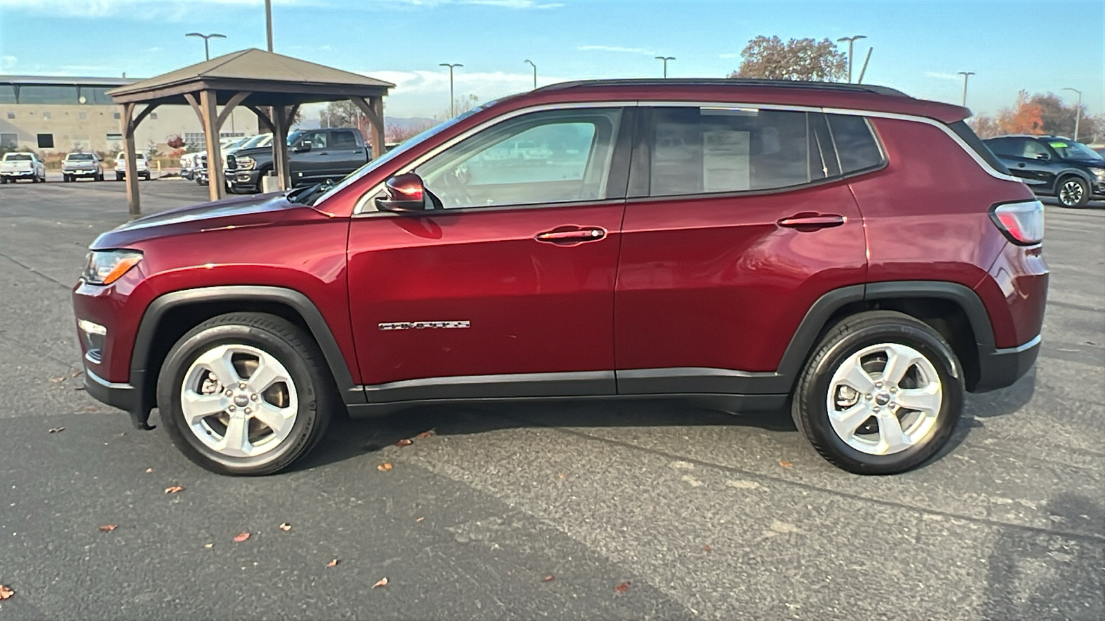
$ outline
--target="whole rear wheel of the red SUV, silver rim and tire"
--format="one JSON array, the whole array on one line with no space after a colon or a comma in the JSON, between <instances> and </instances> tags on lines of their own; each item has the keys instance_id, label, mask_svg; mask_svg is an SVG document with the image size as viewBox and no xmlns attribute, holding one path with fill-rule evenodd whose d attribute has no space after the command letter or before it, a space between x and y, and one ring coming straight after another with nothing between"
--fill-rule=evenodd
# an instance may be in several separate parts
<instances>
[{"instance_id":1,"label":"whole rear wheel of the red SUV, silver rim and tire","mask_svg":"<svg viewBox=\"0 0 1105 621\"><path fill-rule=\"evenodd\" d=\"M962 400L962 368L944 337L903 313L873 310L829 330L798 380L791 415L833 465L896 474L947 443Z\"/></svg>"}]
</instances>

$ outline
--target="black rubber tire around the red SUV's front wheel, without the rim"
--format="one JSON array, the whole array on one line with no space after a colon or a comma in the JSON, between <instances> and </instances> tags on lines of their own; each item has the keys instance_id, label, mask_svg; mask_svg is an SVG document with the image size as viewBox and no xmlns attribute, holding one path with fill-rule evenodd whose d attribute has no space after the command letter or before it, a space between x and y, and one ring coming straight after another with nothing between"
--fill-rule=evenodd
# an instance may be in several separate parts
<instances>
[{"instance_id":1,"label":"black rubber tire around the red SUV's front wheel, without the rim","mask_svg":"<svg viewBox=\"0 0 1105 621\"><path fill-rule=\"evenodd\" d=\"M185 376L202 354L220 345L244 345L273 356L295 385L298 408L292 430L266 453L252 457L221 454L200 441L185 420ZM200 466L230 475L273 474L292 465L318 443L332 412L340 407L329 369L311 335L286 319L263 313L220 315L182 336L161 365L157 402L173 444Z\"/></svg>"}]
</instances>

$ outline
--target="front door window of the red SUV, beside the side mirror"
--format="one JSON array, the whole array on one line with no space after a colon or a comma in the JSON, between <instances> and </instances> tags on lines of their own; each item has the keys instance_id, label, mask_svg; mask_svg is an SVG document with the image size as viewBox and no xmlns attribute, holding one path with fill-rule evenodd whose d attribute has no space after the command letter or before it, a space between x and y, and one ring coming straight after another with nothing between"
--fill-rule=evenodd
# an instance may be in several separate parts
<instances>
[{"instance_id":1,"label":"front door window of the red SUV, beside the side mirror","mask_svg":"<svg viewBox=\"0 0 1105 621\"><path fill-rule=\"evenodd\" d=\"M530 113L480 131L414 171L445 209L606 197L620 108Z\"/></svg>"}]
</instances>

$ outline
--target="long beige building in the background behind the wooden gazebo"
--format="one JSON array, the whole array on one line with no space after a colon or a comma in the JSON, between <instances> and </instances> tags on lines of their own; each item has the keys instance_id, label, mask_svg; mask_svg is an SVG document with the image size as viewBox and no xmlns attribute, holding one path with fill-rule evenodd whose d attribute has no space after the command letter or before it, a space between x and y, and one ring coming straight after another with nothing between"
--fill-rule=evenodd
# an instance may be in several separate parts
<instances>
[{"instance_id":1,"label":"long beige building in the background behind the wooden gazebo","mask_svg":"<svg viewBox=\"0 0 1105 621\"><path fill-rule=\"evenodd\" d=\"M0 148L30 149L43 156L72 150L123 149L120 106L105 92L137 82L118 77L51 77L0 75ZM235 108L221 135L249 136L257 133L257 117ZM138 149L151 145L162 149L172 136L180 136L189 150L203 149L203 134L191 106L159 106L138 126Z\"/></svg>"}]
</instances>

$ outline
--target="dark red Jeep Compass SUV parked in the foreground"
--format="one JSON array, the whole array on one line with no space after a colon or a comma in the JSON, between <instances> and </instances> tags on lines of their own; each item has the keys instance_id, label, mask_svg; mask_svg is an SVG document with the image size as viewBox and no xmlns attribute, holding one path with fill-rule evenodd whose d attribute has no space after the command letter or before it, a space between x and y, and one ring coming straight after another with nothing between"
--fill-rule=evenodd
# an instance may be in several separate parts
<instances>
[{"instance_id":1,"label":"dark red Jeep Compass SUV parked in the foreground","mask_svg":"<svg viewBox=\"0 0 1105 621\"><path fill-rule=\"evenodd\" d=\"M507 97L336 186L101 235L85 386L228 474L341 408L597 397L789 407L833 464L901 472L1040 347L1043 208L968 115L798 82Z\"/></svg>"}]
</instances>

